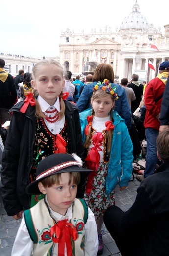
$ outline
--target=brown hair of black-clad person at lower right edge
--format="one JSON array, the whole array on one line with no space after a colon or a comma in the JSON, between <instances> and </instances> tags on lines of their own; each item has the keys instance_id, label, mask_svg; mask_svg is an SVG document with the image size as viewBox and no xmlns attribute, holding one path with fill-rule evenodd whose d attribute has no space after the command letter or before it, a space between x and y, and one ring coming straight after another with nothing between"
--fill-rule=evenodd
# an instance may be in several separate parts
<instances>
[{"instance_id":1,"label":"brown hair of black-clad person at lower right edge","mask_svg":"<svg viewBox=\"0 0 169 256\"><path fill-rule=\"evenodd\" d=\"M169 128L160 132L157 140L157 151L163 162L169 160Z\"/></svg>"}]
</instances>

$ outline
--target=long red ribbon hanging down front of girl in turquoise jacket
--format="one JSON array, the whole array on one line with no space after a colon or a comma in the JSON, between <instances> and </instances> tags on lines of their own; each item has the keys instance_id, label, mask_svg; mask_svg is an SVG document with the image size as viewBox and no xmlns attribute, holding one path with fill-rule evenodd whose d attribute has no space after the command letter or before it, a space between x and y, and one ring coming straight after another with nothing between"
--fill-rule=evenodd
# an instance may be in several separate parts
<instances>
[{"instance_id":1,"label":"long red ribbon hanging down front of girl in turquoise jacket","mask_svg":"<svg viewBox=\"0 0 169 256\"><path fill-rule=\"evenodd\" d=\"M90 194L92 191L92 185L93 185L95 172L97 171L97 169L99 167L100 154L99 154L98 150L102 150L100 148L100 146L102 145L103 137L104 136L101 132L97 132L93 136L92 143L93 143L94 147L92 147L90 149L89 155L85 159L87 161L87 168L90 170L93 170L93 172L91 172L88 175L88 180L87 180L87 185L86 185L86 193L87 194Z\"/></svg>"}]
</instances>

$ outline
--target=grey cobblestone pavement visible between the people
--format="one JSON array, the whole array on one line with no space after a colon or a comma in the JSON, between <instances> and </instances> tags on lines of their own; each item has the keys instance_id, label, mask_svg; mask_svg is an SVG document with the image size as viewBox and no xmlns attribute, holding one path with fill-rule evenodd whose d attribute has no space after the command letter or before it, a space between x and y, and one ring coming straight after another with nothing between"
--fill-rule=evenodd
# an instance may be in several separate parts
<instances>
[{"instance_id":1,"label":"grey cobblestone pavement visible between the people","mask_svg":"<svg viewBox=\"0 0 169 256\"><path fill-rule=\"evenodd\" d=\"M133 202L135 201L137 194L136 190L139 185L140 182L134 178L133 181L129 182L129 186L124 191L121 192L119 187L116 187L116 205L119 206L121 210L126 211L132 206ZM7 216L0 195L0 256L11 256L12 245L14 243L20 223L21 220L14 220L12 217ZM105 246L102 256L121 256L116 243L110 236L105 226L103 226L103 230L103 242Z\"/></svg>"}]
</instances>

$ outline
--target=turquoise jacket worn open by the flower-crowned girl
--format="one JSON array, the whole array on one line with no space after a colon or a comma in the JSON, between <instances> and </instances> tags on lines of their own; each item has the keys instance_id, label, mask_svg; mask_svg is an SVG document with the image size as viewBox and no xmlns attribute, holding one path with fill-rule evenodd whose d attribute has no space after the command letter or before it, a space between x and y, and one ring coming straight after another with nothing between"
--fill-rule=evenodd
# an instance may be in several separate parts
<instances>
[{"instance_id":1,"label":"turquoise jacket worn open by the flower-crowned girl","mask_svg":"<svg viewBox=\"0 0 169 256\"><path fill-rule=\"evenodd\" d=\"M85 141L84 129L87 125L87 116L91 115L91 109L80 113L83 143ZM111 153L108 165L108 175L105 182L106 194L109 195L116 185L127 186L133 170L133 143L130 139L124 119L113 111L114 131Z\"/></svg>"}]
</instances>

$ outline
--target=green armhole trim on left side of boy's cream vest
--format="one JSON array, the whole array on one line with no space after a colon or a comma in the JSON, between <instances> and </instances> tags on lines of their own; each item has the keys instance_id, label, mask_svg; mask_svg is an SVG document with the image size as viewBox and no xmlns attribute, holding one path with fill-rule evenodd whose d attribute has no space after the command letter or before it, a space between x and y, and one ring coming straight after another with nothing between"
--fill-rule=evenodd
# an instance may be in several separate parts
<instances>
[{"instance_id":1,"label":"green armhole trim on left side of boy's cream vest","mask_svg":"<svg viewBox=\"0 0 169 256\"><path fill-rule=\"evenodd\" d=\"M33 221L32 221L30 209L24 211L24 219L25 219L25 224L26 224L26 227L27 227L27 230L29 232L31 240L35 244L37 244L38 237L37 237L37 234L36 234L35 229L34 229L34 224L33 224Z\"/></svg>"}]
</instances>

